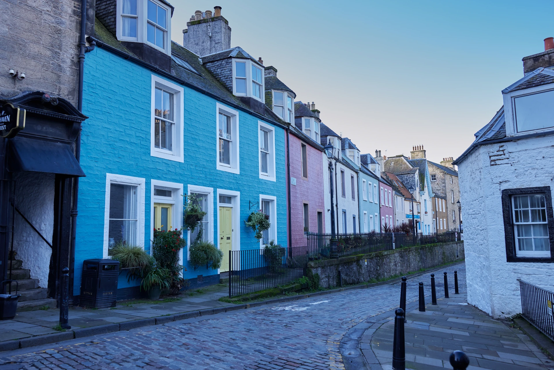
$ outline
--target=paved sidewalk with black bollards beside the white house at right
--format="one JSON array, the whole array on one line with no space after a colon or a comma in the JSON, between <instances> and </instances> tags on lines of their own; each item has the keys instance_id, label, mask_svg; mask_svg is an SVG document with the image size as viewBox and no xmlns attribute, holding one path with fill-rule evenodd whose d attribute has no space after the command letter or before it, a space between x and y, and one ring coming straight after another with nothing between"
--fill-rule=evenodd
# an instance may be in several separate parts
<instances>
[{"instance_id":1,"label":"paved sidewalk with black bollards beside the white house at right","mask_svg":"<svg viewBox=\"0 0 554 370\"><path fill-rule=\"evenodd\" d=\"M464 293L439 298L438 305L407 307L406 368L452 368L450 353L461 349L470 358L471 369L554 369L551 361L523 332L493 320L468 305ZM415 308L415 310L413 309ZM393 312L390 312L393 315ZM362 337L361 348L371 369L392 369L393 316L377 321ZM375 330L376 329L376 330Z\"/></svg>"}]
</instances>

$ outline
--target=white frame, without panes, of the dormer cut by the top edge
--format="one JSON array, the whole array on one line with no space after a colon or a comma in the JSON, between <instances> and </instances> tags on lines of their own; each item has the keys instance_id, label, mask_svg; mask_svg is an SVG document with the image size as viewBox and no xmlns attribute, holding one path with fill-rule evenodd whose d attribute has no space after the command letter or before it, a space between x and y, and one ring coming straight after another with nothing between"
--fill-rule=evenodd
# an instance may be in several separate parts
<instances>
[{"instance_id":1,"label":"white frame, without panes, of the dormer cut by the top edge","mask_svg":"<svg viewBox=\"0 0 554 370\"><path fill-rule=\"evenodd\" d=\"M168 7L166 4L161 3L157 0L151 0L153 3L155 3L157 6L160 6L164 9L166 9L167 14L167 24L166 24L166 40L165 40L165 48L160 48L155 44L152 44L148 42L147 35L146 35L146 27L148 24L148 21L146 19L147 17L147 9L148 9L148 0L137 0L137 37L126 37L122 36L122 27L123 27L123 21L121 19L122 17L122 11L123 11L123 1L117 0L116 5L116 37L120 41L132 41L132 42L139 42L147 44L148 46L151 46L152 48L155 48L157 50L160 50L161 52L171 55L171 8Z\"/></svg>"}]
</instances>

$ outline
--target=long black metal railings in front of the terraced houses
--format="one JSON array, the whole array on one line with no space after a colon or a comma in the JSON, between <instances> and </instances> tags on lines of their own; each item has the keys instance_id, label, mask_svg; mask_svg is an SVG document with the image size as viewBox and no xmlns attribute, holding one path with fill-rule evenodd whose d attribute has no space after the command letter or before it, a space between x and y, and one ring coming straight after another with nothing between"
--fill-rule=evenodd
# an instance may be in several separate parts
<instances>
[{"instance_id":1,"label":"long black metal railings in front of the terraced houses","mask_svg":"<svg viewBox=\"0 0 554 370\"><path fill-rule=\"evenodd\" d=\"M338 234L339 257L455 241L454 232L434 235L370 232ZM331 234L307 233L307 246L229 251L229 297L274 288L306 275L309 261L330 258Z\"/></svg>"}]
</instances>

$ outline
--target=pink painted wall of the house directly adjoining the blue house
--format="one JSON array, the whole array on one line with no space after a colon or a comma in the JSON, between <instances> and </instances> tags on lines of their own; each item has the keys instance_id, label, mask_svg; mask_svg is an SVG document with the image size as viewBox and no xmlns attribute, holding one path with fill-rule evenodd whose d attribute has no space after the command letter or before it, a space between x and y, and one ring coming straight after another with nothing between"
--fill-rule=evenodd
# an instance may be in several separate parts
<instances>
[{"instance_id":1,"label":"pink painted wall of the house directly adjoining the blue house","mask_svg":"<svg viewBox=\"0 0 554 370\"><path fill-rule=\"evenodd\" d=\"M325 232L323 153L292 133L289 134L289 138L290 177L296 179L296 185L290 185L291 246L300 247L307 245L307 239L304 236L304 203L308 204L310 231L317 232L317 212L320 211L323 217L323 232ZM307 179L302 178L302 143L306 144L307 151Z\"/></svg>"}]
</instances>

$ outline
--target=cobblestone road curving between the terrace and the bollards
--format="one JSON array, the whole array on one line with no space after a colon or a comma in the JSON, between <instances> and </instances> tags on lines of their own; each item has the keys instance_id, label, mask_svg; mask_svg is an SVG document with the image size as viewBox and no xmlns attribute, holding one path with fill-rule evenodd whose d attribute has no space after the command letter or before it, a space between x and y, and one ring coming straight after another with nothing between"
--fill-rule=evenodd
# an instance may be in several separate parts
<instances>
[{"instance_id":1,"label":"cobblestone road curving between the terrace and the bollards","mask_svg":"<svg viewBox=\"0 0 554 370\"><path fill-rule=\"evenodd\" d=\"M451 294L454 270L465 291L465 265L456 265L444 269ZM442 271L436 274L439 296ZM419 281L430 294L428 275L417 277L408 280L407 301L417 300ZM399 291L398 283L383 285L74 339L43 351L19 349L0 354L6 364L0 370L343 369L342 336L367 317L397 307Z\"/></svg>"}]
</instances>

